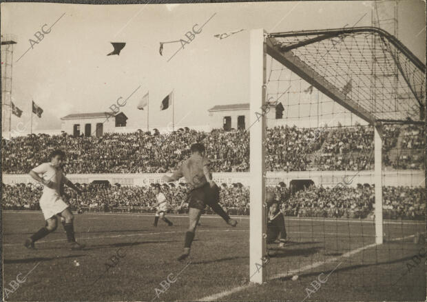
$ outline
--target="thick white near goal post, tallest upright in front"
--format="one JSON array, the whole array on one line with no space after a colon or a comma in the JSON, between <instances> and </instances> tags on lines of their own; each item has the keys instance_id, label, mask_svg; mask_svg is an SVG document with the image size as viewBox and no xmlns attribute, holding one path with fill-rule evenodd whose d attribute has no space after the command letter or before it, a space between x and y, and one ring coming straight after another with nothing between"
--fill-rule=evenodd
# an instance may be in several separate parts
<instances>
[{"instance_id":1,"label":"thick white near goal post, tallest upright in front","mask_svg":"<svg viewBox=\"0 0 427 302\"><path fill-rule=\"evenodd\" d=\"M266 60L264 51L264 30L251 30L250 37L250 227L249 227L249 276L251 282L263 283L266 280L264 256L267 253L265 234L265 115L259 114L266 98Z\"/></svg>"}]
</instances>

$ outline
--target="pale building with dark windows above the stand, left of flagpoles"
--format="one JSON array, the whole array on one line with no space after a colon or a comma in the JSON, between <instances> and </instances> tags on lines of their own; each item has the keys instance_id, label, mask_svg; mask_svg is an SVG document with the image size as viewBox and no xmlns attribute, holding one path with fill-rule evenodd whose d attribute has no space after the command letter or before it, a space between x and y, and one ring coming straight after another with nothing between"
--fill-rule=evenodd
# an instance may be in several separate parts
<instances>
[{"instance_id":1,"label":"pale building with dark windows above the stand, left of flagpoles","mask_svg":"<svg viewBox=\"0 0 427 302\"><path fill-rule=\"evenodd\" d=\"M76 113L61 117L61 130L74 137L102 137L105 132L121 132L127 117L123 112Z\"/></svg>"}]
</instances>

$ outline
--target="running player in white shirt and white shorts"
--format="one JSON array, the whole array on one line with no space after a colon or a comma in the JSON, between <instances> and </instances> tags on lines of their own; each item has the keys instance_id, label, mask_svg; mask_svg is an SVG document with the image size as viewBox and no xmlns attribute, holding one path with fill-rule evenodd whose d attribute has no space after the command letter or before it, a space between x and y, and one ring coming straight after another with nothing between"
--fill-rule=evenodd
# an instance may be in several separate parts
<instances>
[{"instance_id":1,"label":"running player in white shirt and white shorts","mask_svg":"<svg viewBox=\"0 0 427 302\"><path fill-rule=\"evenodd\" d=\"M84 248L84 245L77 243L74 238L74 216L69 205L61 197L61 183L81 194L81 190L69 181L62 172L61 163L64 159L65 153L61 150L55 150L50 155L50 163L42 163L30 171L30 176L44 185L43 194L40 198L40 208L45 217L46 224L25 241L24 245L26 248L34 249L34 243L37 240L56 230L58 227L56 215L61 215L65 219L63 225L70 248L72 250L81 250Z\"/></svg>"}]
</instances>

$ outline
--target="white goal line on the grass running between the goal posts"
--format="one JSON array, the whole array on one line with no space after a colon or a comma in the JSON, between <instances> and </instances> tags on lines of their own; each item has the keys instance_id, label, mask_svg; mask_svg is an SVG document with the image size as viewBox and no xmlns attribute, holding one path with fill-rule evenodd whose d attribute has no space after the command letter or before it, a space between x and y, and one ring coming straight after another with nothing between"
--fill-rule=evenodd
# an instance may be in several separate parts
<instances>
[{"instance_id":1,"label":"white goal line on the grass running between the goal posts","mask_svg":"<svg viewBox=\"0 0 427 302\"><path fill-rule=\"evenodd\" d=\"M389 241L400 241L400 240L403 241L403 240L406 240L406 239L413 238L414 236L415 236L415 234L409 235L409 236L400 237L400 238L396 238L396 239L390 239ZM293 275L295 275L297 273L300 274L301 272L304 272L306 270L311 270L313 268L317 268L317 267L319 267L321 265L324 265L326 263L336 262L340 258L352 256L353 254L357 254L358 252L362 252L363 250L366 250L368 248L373 248L376 245L377 245L377 243L368 244L368 245L362 246L361 248L357 248L357 249L352 250L350 252L346 252L345 254L342 254L341 256L336 256L336 257L330 258L327 261L317 261L317 262L315 262L315 263L313 263L311 265L305 265L304 267L299 268L298 270L290 270L287 273L274 274L271 277L270 281L274 280L274 279L280 279L280 278L286 278L288 276L293 276ZM196 301L215 301L217 299L222 299L225 296L229 296L230 294L234 294L234 293L240 292L242 290L247 290L248 288L252 288L255 285L256 284L254 284L254 283L249 283L247 285L240 285L240 286L237 286L236 288L231 288L230 290L225 290L225 291L222 291L222 292L218 292L217 294L211 294L210 296L205 296L202 299L196 299Z\"/></svg>"}]
</instances>

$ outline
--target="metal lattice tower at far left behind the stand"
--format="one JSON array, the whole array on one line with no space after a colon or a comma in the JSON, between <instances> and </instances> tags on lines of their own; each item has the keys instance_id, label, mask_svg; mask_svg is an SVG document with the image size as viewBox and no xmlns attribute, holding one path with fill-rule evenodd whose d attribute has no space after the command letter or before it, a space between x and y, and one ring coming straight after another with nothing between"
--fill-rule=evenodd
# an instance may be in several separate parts
<instances>
[{"instance_id":1,"label":"metal lattice tower at far left behind the stand","mask_svg":"<svg viewBox=\"0 0 427 302\"><path fill-rule=\"evenodd\" d=\"M10 139L12 114L12 65L13 48L17 38L12 34L1 35L1 132Z\"/></svg>"}]
</instances>

